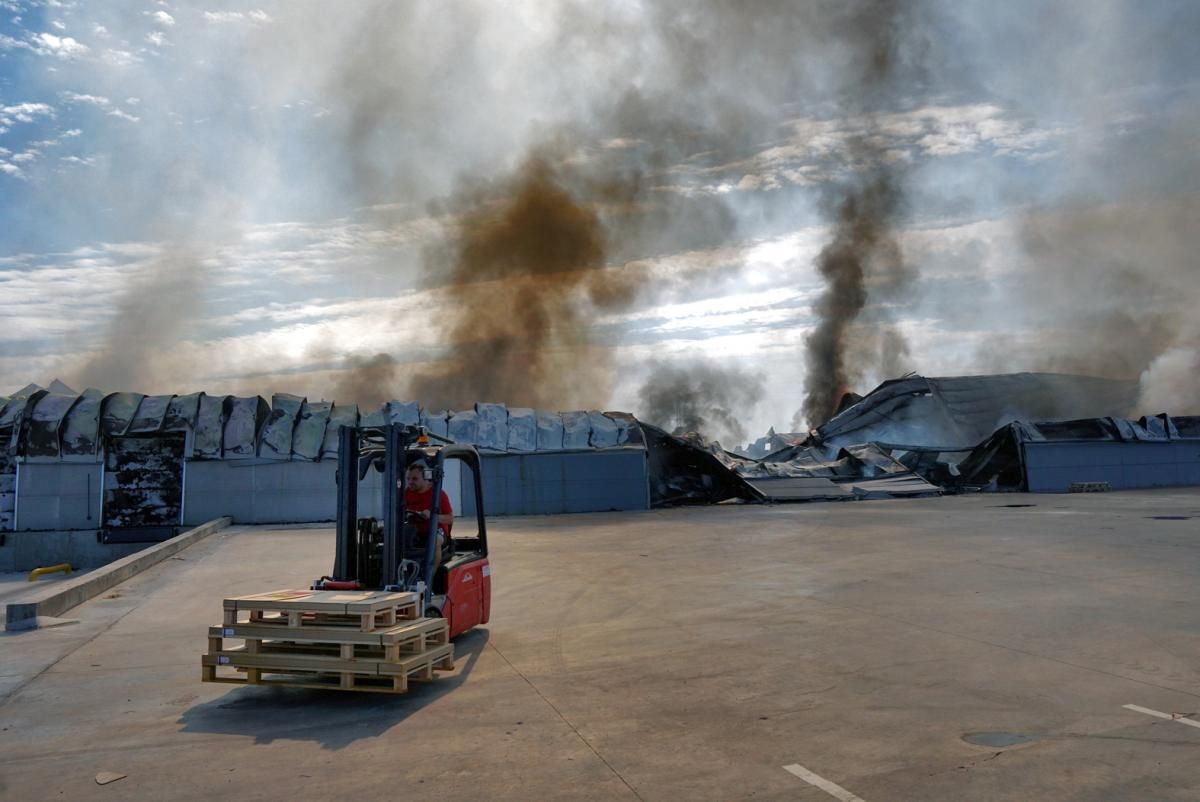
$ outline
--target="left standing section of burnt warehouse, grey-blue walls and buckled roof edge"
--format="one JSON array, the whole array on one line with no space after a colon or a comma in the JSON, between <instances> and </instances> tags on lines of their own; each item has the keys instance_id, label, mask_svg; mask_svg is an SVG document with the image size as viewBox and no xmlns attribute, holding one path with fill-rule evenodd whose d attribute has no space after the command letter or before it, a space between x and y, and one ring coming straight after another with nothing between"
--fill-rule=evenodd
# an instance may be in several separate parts
<instances>
[{"instance_id":1,"label":"left standing section of burnt warehouse, grey-blue walls and buckled roof edge","mask_svg":"<svg viewBox=\"0 0 1200 802\"><path fill-rule=\"evenodd\" d=\"M642 431L622 413L55 390L0 399L0 531L331 520L338 429L385 423L479 447L492 514L650 505Z\"/></svg>"}]
</instances>

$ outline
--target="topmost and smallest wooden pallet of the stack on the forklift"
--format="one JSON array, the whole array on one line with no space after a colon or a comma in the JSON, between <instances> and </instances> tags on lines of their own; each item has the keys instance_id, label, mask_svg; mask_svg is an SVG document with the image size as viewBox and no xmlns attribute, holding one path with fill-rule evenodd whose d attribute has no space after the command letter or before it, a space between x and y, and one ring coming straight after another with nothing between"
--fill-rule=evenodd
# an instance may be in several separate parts
<instances>
[{"instance_id":1,"label":"topmost and smallest wooden pallet of the stack on the forklift","mask_svg":"<svg viewBox=\"0 0 1200 802\"><path fill-rule=\"evenodd\" d=\"M415 593L384 591L271 591L224 600L224 626L348 628L374 632L421 617ZM248 621L242 618L242 615Z\"/></svg>"}]
</instances>

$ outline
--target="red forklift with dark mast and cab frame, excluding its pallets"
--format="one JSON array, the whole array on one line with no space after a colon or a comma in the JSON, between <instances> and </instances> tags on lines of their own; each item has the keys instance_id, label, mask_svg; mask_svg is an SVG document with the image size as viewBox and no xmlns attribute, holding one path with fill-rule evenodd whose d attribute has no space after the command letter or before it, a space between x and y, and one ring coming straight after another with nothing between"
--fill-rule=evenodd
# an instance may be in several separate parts
<instances>
[{"instance_id":1,"label":"red forklift with dark mast and cab frame, excluding its pallets","mask_svg":"<svg viewBox=\"0 0 1200 802\"><path fill-rule=\"evenodd\" d=\"M461 477L461 505L469 516L438 521L434 503L428 526L404 508L409 466L419 463L442 497L449 475ZM383 474L376 477L372 474ZM468 480L469 477L469 480ZM337 450L337 546L334 573L313 589L384 589L419 593L430 617L442 617L450 638L486 624L492 608L492 569L479 451L428 433L420 426L342 426ZM468 496L470 493L470 496ZM374 503L372 503L374 502ZM377 516L359 516L374 507ZM452 523L452 526L451 526ZM426 533L424 537L420 531ZM442 533L440 559L436 553Z\"/></svg>"}]
</instances>

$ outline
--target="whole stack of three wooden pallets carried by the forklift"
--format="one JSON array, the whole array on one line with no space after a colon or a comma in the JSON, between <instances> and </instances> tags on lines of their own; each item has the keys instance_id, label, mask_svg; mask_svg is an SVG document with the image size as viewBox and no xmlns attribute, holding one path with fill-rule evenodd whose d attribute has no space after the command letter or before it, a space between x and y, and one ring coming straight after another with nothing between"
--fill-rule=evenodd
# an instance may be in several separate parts
<instances>
[{"instance_id":1,"label":"whole stack of three wooden pallets carried by the forklift","mask_svg":"<svg viewBox=\"0 0 1200 802\"><path fill-rule=\"evenodd\" d=\"M226 599L202 666L204 682L404 693L454 669L454 646L415 593L274 591Z\"/></svg>"}]
</instances>

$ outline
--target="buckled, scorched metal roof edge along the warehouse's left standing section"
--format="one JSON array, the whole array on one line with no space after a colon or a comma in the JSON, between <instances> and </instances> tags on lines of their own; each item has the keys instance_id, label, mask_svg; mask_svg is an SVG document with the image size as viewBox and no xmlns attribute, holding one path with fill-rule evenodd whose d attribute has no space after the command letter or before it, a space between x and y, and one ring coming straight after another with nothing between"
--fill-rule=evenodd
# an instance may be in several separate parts
<instances>
[{"instance_id":1,"label":"buckled, scorched metal roof edge along the warehouse's left standing section","mask_svg":"<svg viewBox=\"0 0 1200 802\"><path fill-rule=\"evenodd\" d=\"M64 388L66 385L62 385ZM70 388L67 388L70 389ZM432 433L487 451L560 451L644 448L632 415L599 412L508 409L479 403L458 412L421 409L415 401L356 405L260 396L49 393L36 385L20 397L0 397L0 451L34 460L95 461L102 438L188 433L193 460L306 460L337 455L343 426L421 424Z\"/></svg>"}]
</instances>

